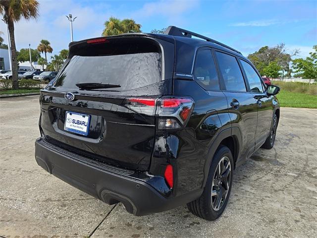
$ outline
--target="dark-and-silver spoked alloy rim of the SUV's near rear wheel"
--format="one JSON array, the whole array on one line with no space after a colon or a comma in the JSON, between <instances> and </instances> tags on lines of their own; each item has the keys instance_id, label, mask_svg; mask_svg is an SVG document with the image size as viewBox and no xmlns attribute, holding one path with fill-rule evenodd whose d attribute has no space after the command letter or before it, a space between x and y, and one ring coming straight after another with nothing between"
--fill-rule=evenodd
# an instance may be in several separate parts
<instances>
[{"instance_id":1,"label":"dark-and-silver spoked alloy rim of the SUV's near rear wheel","mask_svg":"<svg viewBox=\"0 0 317 238\"><path fill-rule=\"evenodd\" d=\"M218 211L224 204L231 183L231 163L228 157L224 156L219 161L212 179L211 206Z\"/></svg>"}]
</instances>

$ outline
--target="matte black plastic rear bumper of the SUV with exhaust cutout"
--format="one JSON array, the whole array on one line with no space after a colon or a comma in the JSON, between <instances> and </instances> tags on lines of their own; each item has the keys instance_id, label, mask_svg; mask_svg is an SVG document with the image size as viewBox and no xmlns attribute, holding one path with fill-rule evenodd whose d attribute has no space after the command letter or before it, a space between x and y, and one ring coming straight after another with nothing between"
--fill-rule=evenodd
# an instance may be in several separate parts
<instances>
[{"instance_id":1,"label":"matte black plastic rear bumper of the SUV with exhaust cutout","mask_svg":"<svg viewBox=\"0 0 317 238\"><path fill-rule=\"evenodd\" d=\"M98 162L62 150L43 139L35 142L39 166L59 179L107 204L122 202L136 216L162 212L186 204L200 196L201 190L165 198L145 180L129 176L129 171L100 166Z\"/></svg>"}]
</instances>

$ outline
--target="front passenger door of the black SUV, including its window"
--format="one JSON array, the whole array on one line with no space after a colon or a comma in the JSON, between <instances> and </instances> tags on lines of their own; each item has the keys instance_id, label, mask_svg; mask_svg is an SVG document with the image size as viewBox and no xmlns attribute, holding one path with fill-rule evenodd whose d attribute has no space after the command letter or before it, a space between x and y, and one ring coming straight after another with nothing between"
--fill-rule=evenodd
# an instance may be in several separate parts
<instances>
[{"instance_id":1,"label":"front passenger door of the black SUV, including its window","mask_svg":"<svg viewBox=\"0 0 317 238\"><path fill-rule=\"evenodd\" d=\"M254 67L247 61L240 59L246 78L248 79L250 92L257 100L258 123L256 131L256 148L260 147L266 140L271 128L273 116L273 97L267 96L265 86L262 83L260 75Z\"/></svg>"}]
</instances>

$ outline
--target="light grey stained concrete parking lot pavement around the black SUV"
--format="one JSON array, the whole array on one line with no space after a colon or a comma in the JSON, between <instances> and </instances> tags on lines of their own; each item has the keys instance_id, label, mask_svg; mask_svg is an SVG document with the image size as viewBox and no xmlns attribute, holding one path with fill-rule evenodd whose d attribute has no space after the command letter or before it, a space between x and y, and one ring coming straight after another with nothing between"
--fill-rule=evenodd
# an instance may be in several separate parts
<instances>
[{"instance_id":1,"label":"light grey stained concrete parking lot pavement around the black SUV","mask_svg":"<svg viewBox=\"0 0 317 238\"><path fill-rule=\"evenodd\" d=\"M281 109L274 148L235 171L214 222L184 205L135 217L49 175L34 159L39 113L38 96L0 99L2 237L317 237L317 110Z\"/></svg>"}]
</instances>

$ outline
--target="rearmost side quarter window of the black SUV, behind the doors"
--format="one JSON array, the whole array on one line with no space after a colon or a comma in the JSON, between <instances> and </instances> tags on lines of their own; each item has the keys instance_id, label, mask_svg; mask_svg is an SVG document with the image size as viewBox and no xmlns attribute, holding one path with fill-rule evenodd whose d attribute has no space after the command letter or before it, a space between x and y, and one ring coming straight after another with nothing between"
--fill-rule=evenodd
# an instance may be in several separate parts
<instances>
[{"instance_id":1,"label":"rearmost side quarter window of the black SUV, behind the doors","mask_svg":"<svg viewBox=\"0 0 317 238\"><path fill-rule=\"evenodd\" d=\"M194 78L200 86L208 91L220 89L211 50L202 50L197 53Z\"/></svg>"}]
</instances>

